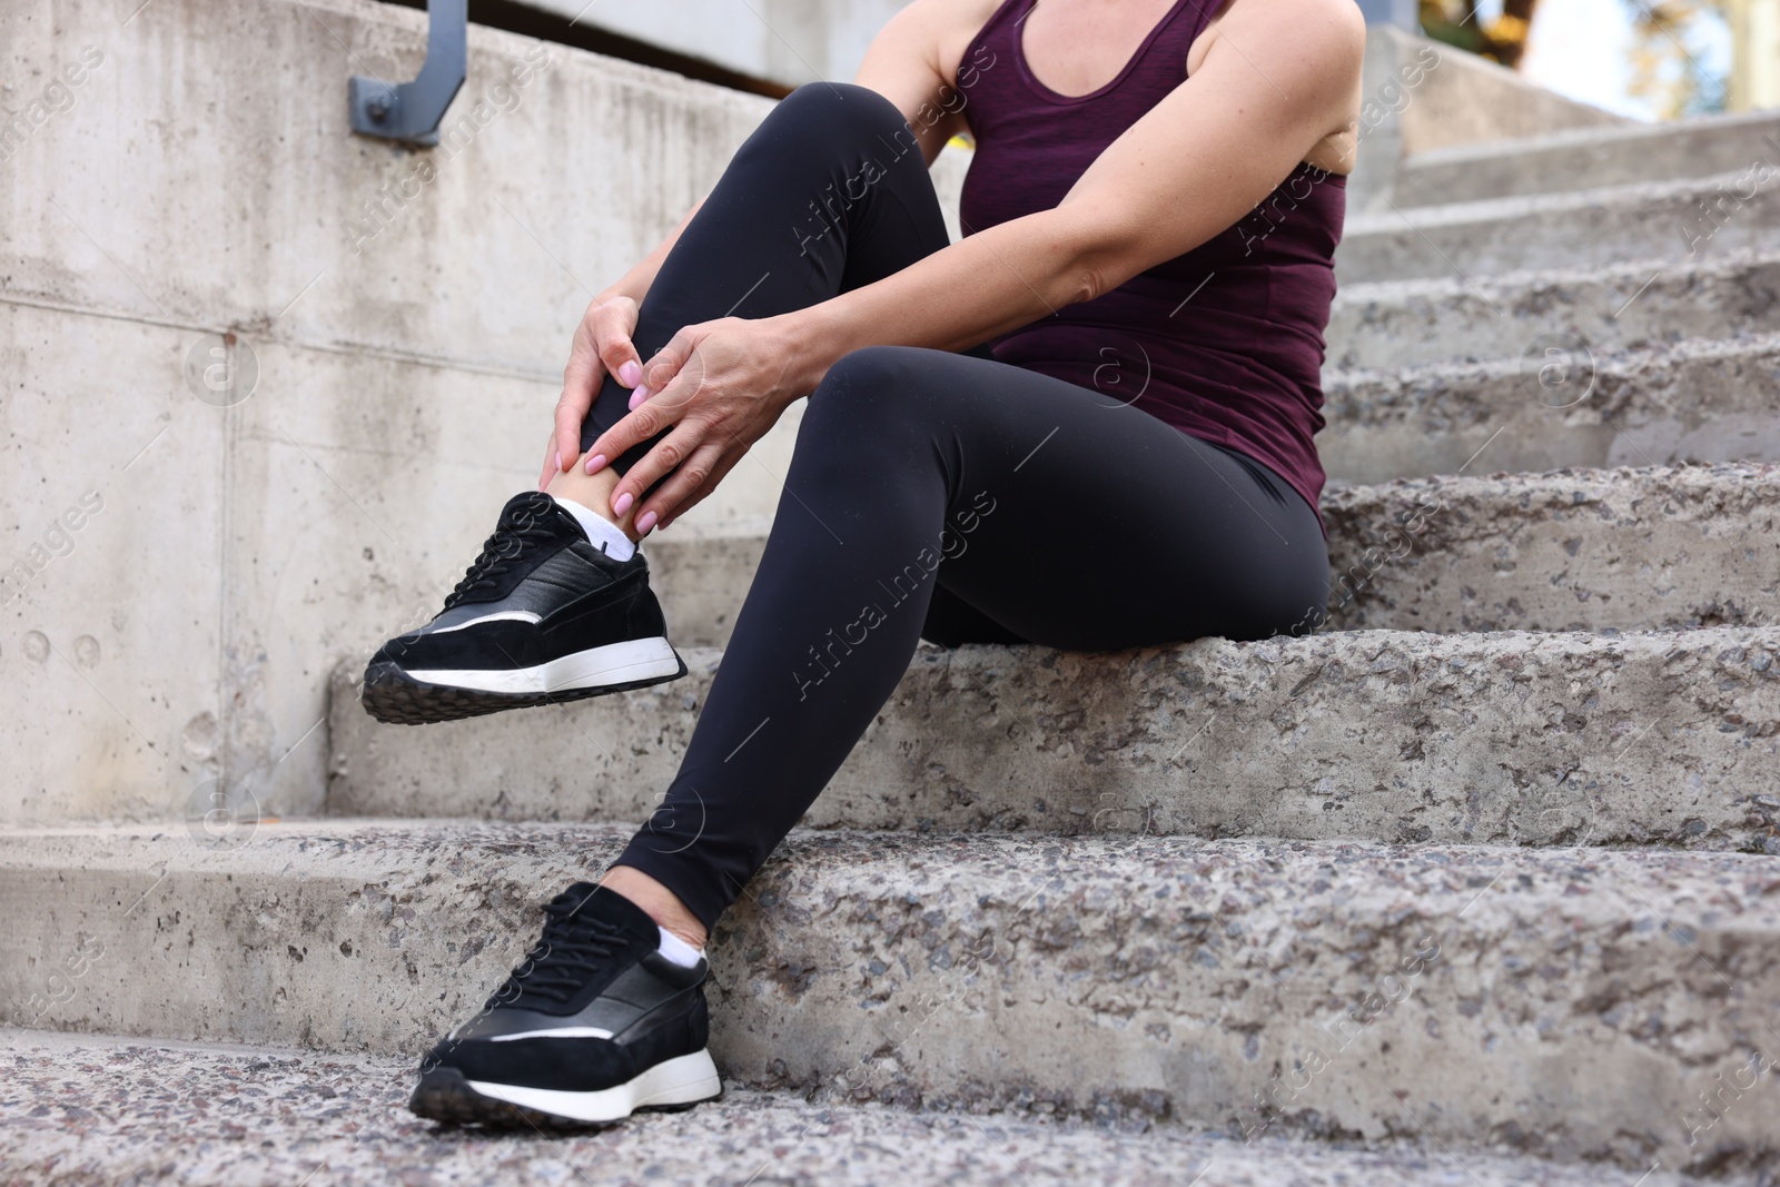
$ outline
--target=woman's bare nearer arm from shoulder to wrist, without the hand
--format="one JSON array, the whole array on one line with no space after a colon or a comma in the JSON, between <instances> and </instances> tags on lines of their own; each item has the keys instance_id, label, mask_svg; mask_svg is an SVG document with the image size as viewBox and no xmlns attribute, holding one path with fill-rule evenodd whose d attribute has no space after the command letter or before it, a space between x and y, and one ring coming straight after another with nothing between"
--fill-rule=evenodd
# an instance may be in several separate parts
<instances>
[{"instance_id":1,"label":"woman's bare nearer arm from shoulder to wrist, without the hand","mask_svg":"<svg viewBox=\"0 0 1780 1187\"><path fill-rule=\"evenodd\" d=\"M894 276L785 313L794 384L876 343L961 351L1198 247L1255 208L1358 103L1365 25L1346 0L1239 0L1187 80L1054 210L970 235Z\"/></svg>"}]
</instances>

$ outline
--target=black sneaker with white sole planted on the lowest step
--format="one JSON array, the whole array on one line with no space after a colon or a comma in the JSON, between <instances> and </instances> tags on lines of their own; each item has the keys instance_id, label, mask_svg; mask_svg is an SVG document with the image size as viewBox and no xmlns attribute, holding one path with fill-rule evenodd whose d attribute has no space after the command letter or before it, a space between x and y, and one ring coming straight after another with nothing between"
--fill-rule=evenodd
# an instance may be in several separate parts
<instances>
[{"instance_id":1,"label":"black sneaker with white sole planted on the lowest step","mask_svg":"<svg viewBox=\"0 0 1780 1187\"><path fill-rule=\"evenodd\" d=\"M409 1110L450 1125L564 1128L723 1093L705 1050L705 961L612 890L575 883L545 906L525 961L420 1064Z\"/></svg>"}]
</instances>

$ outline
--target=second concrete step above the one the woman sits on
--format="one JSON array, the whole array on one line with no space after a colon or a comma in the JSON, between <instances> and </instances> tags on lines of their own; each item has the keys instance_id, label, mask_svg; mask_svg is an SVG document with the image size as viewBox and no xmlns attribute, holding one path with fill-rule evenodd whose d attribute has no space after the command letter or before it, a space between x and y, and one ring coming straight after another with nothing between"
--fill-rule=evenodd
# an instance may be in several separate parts
<instances>
[{"instance_id":1,"label":"second concrete step above the one the woman sits on","mask_svg":"<svg viewBox=\"0 0 1780 1187\"><path fill-rule=\"evenodd\" d=\"M1598 356L1559 335L1483 363L1326 370L1323 392L1317 450L1344 482L1780 461L1780 333Z\"/></svg>"}]
</instances>

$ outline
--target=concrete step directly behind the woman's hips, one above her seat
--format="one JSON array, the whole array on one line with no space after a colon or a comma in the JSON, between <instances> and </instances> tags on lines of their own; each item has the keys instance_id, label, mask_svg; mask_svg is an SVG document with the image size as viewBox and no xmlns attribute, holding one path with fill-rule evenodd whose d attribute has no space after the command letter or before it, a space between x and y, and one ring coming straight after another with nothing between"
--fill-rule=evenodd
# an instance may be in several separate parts
<instances>
[{"instance_id":1,"label":"concrete step directly behind the woman's hips, one above her seat","mask_svg":"<svg viewBox=\"0 0 1780 1187\"><path fill-rule=\"evenodd\" d=\"M1330 488L1333 630L1657 630L1766 621L1780 468L1565 470ZM682 646L728 646L765 532L648 545ZM1736 593L1728 593L1736 591Z\"/></svg>"}]
</instances>

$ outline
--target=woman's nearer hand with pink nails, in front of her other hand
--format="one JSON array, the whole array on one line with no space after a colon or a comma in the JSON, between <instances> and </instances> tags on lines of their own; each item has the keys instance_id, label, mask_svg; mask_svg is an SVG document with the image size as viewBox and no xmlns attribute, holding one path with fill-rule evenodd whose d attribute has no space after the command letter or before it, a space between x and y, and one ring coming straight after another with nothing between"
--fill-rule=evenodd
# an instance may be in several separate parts
<instances>
[{"instance_id":1,"label":"woman's nearer hand with pink nails, in front of her other hand","mask_svg":"<svg viewBox=\"0 0 1780 1187\"><path fill-rule=\"evenodd\" d=\"M637 507L639 532L668 527L703 500L785 408L815 386L799 374L799 356L783 319L723 317L676 333L643 367L630 415L587 450L586 470L596 473L630 447L673 429L619 479L612 514L623 516L669 472Z\"/></svg>"}]
</instances>

